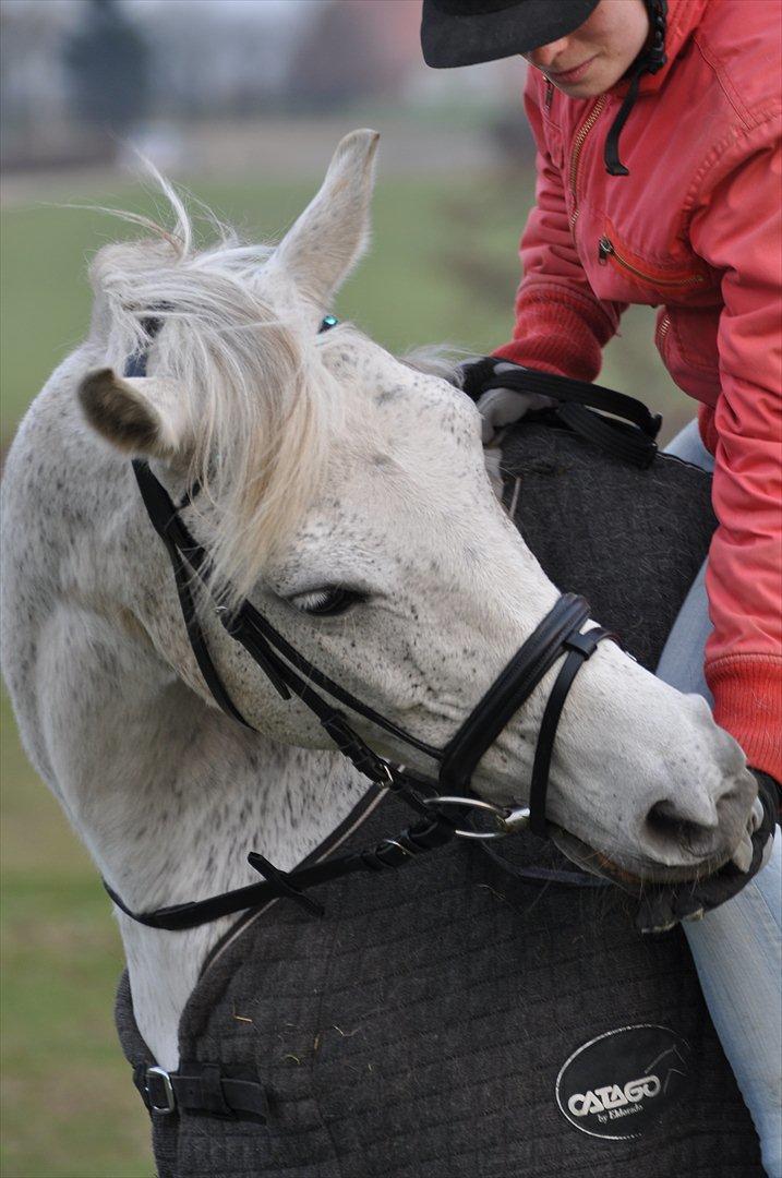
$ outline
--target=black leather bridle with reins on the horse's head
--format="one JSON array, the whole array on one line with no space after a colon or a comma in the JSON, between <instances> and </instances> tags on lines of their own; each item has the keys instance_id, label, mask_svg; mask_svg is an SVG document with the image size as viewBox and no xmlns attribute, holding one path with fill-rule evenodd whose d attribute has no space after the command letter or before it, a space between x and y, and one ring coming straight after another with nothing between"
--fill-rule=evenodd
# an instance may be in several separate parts
<instances>
[{"instance_id":1,"label":"black leather bridle with reins on the horse's head","mask_svg":"<svg viewBox=\"0 0 782 1178\"><path fill-rule=\"evenodd\" d=\"M333 326L331 317L322 330ZM154 338L159 320L147 320L147 335ZM127 362L126 376L146 375L146 351L137 352ZM362 853L343 855L320 862L306 861L290 873L278 871L263 855L252 853L248 861L264 881L211 896L207 900L173 905L150 913L134 913L106 885L118 907L140 924L166 929L191 928L219 916L259 907L277 896L289 896L309 912L320 912L303 889L339 875L357 871L378 871L398 867L417 854L450 841L455 835L473 839L495 839L515 830L529 828L545 836L546 792L551 754L557 726L568 693L579 669L604 638L615 638L602 627L582 633L589 618L589 605L576 594L564 594L545 615L530 637L517 650L491 687L477 702L444 748L437 748L406 732L357 699L345 688L305 659L296 647L246 598L236 609L223 604L220 594L210 582L211 561L206 549L192 536L183 522L181 511L191 503L192 494L177 505L155 477L148 464L133 461L133 472L154 530L163 541L171 560L179 603L191 648L206 686L219 707L232 720L252 728L231 699L212 660L201 627L192 590L194 578L201 582L216 603L217 616L231 638L238 642L260 667L279 695L298 697L317 717L336 747L353 766L378 787L393 790L418 815L419 821L409 829L386 839L377 847ZM503 808L469 794L472 775L486 750L493 744L518 709L529 700L544 675L564 656L564 662L549 695L530 780L529 806ZM369 720L373 726L393 736L418 753L424 753L439 766L437 780L412 773L375 753L339 707ZM493 829L460 829L455 812L460 808L485 812Z\"/></svg>"}]
</instances>

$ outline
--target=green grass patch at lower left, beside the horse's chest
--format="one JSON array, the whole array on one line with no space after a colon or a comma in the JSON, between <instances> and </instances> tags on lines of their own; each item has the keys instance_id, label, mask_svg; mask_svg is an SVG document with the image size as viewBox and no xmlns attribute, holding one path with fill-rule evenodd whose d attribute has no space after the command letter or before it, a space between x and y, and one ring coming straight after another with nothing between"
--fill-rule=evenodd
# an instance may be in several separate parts
<instances>
[{"instance_id":1,"label":"green grass patch at lower left, beside the horse's chest","mask_svg":"<svg viewBox=\"0 0 782 1178\"><path fill-rule=\"evenodd\" d=\"M2 703L2 1173L151 1174L112 1025L121 946L95 872Z\"/></svg>"}]
</instances>

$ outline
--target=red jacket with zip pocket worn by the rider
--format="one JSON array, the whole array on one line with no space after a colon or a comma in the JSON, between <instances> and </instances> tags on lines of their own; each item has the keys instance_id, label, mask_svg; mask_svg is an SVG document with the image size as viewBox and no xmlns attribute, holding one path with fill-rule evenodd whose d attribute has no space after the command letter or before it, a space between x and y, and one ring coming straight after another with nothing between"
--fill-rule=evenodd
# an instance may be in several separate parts
<instances>
[{"instance_id":1,"label":"red jacket with zip pocket worn by the rider","mask_svg":"<svg viewBox=\"0 0 782 1178\"><path fill-rule=\"evenodd\" d=\"M576 100L530 68L537 203L522 238L513 340L497 355L592 380L629 303L701 402L716 458L709 560L715 716L782 780L782 231L778 0L669 0L668 65L603 146L619 82ZM603 243L601 246L601 241Z\"/></svg>"}]
</instances>

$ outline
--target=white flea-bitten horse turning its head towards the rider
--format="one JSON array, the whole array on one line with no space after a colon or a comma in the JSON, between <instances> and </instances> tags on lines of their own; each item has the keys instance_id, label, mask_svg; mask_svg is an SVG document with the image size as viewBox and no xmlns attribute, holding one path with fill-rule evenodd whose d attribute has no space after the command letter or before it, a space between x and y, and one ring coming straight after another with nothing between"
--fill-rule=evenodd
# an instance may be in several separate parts
<instances>
[{"instance_id":1,"label":"white flea-bitten horse turning its head towards the rider","mask_svg":"<svg viewBox=\"0 0 782 1178\"><path fill-rule=\"evenodd\" d=\"M365 782L201 601L219 671L258 732L216 707L130 456L174 498L198 481L185 516L217 577L435 746L558 596L491 491L468 397L350 325L318 335L367 240L376 143L357 131L339 144L277 249L223 234L199 252L170 192L174 232L101 250L90 336L8 457L2 638L21 736L137 912L253 882L253 848L291 868ZM122 378L150 315L164 326L148 375ZM554 674L483 757L485 799L525 801ZM353 719L379 753L431 769ZM565 849L586 845L642 879L690 878L745 854L754 795L703 700L601 644L556 743L548 816ZM173 1070L180 1012L231 921L172 933L117 919L139 1028Z\"/></svg>"}]
</instances>

